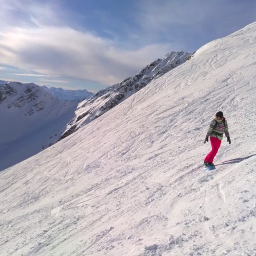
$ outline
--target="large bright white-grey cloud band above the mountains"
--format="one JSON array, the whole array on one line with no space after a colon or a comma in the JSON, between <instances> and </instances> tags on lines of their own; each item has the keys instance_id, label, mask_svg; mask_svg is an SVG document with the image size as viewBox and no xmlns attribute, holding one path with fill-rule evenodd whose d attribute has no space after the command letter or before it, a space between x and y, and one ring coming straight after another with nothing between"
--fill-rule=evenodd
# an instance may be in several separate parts
<instances>
[{"instance_id":1,"label":"large bright white-grey cloud band above the mountains","mask_svg":"<svg viewBox=\"0 0 256 256\"><path fill-rule=\"evenodd\" d=\"M169 45L149 45L135 51L72 28L12 28L0 33L0 63L44 75L113 84L164 55ZM161 51L159 51L161 49Z\"/></svg>"}]
</instances>

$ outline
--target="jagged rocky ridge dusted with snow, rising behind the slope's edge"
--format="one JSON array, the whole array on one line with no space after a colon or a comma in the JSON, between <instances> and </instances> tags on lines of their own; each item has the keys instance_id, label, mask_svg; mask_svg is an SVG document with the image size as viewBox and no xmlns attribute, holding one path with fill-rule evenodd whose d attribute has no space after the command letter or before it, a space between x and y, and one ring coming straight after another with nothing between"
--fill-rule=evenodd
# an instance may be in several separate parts
<instances>
[{"instance_id":1,"label":"jagged rocky ridge dusted with snow, rising behind the slope's edge","mask_svg":"<svg viewBox=\"0 0 256 256\"><path fill-rule=\"evenodd\" d=\"M77 131L80 126L88 124L126 98L144 88L153 79L164 75L184 63L190 56L187 52L170 52L164 58L158 59L133 77L97 92L93 97L79 103L76 116L67 125L67 130L60 140Z\"/></svg>"}]
</instances>

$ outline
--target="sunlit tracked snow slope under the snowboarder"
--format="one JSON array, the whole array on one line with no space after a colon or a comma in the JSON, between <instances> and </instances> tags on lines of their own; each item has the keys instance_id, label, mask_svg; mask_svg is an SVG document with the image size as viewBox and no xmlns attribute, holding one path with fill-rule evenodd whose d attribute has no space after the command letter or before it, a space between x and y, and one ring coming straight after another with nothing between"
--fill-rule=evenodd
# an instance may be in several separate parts
<instances>
[{"instance_id":1,"label":"sunlit tracked snow slope under the snowboarder","mask_svg":"<svg viewBox=\"0 0 256 256\"><path fill-rule=\"evenodd\" d=\"M256 255L256 23L0 172L1 255ZM206 172L203 144L222 110Z\"/></svg>"}]
</instances>

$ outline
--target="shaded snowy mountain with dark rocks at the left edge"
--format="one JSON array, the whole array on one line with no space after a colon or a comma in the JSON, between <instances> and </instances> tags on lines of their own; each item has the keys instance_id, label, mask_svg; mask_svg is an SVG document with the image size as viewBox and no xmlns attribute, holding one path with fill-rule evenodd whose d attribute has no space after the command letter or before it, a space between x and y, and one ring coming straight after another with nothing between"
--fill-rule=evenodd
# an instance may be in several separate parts
<instances>
[{"instance_id":1,"label":"shaded snowy mountain with dark rocks at the left edge","mask_svg":"<svg viewBox=\"0 0 256 256\"><path fill-rule=\"evenodd\" d=\"M0 170L55 143L76 107L34 83L0 84Z\"/></svg>"}]
</instances>

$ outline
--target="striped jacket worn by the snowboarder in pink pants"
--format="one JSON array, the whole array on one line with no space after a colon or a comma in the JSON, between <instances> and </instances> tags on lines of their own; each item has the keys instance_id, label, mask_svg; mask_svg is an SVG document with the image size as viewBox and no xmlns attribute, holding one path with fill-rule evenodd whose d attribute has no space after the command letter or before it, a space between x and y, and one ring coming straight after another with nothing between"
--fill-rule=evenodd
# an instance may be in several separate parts
<instances>
[{"instance_id":1,"label":"striped jacket worn by the snowboarder in pink pants","mask_svg":"<svg viewBox=\"0 0 256 256\"><path fill-rule=\"evenodd\" d=\"M222 140L223 134L225 134L226 137L229 137L227 121L225 117L223 117L222 120L213 119L210 123L206 136L215 137L218 140Z\"/></svg>"}]
</instances>

